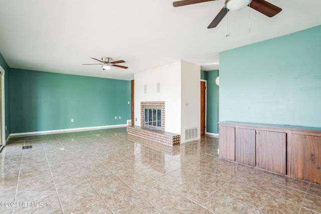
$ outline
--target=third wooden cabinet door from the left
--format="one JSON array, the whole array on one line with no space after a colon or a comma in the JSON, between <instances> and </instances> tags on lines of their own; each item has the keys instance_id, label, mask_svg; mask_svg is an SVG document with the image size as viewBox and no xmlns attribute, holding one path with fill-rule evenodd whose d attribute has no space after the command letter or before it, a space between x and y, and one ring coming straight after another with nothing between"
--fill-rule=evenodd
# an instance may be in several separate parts
<instances>
[{"instance_id":1,"label":"third wooden cabinet door from the left","mask_svg":"<svg viewBox=\"0 0 321 214\"><path fill-rule=\"evenodd\" d=\"M286 133L258 132L256 166L280 174L286 173Z\"/></svg>"}]
</instances>

